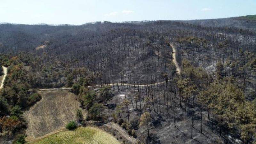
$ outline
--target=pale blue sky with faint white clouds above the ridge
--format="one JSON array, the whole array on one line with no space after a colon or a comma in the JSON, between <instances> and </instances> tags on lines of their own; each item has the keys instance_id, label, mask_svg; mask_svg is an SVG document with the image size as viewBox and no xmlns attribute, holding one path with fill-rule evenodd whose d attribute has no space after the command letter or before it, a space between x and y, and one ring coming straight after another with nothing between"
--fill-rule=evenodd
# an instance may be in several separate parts
<instances>
[{"instance_id":1,"label":"pale blue sky with faint white clouds above the ridge","mask_svg":"<svg viewBox=\"0 0 256 144\"><path fill-rule=\"evenodd\" d=\"M256 0L0 0L0 22L189 20L256 14Z\"/></svg>"}]
</instances>

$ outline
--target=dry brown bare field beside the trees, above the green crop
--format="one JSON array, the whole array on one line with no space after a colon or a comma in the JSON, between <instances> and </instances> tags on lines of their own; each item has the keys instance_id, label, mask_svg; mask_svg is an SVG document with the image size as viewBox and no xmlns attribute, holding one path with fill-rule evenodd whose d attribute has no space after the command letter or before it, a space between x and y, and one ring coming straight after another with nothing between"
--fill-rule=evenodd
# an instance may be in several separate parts
<instances>
[{"instance_id":1,"label":"dry brown bare field beside the trees, above the green crop","mask_svg":"<svg viewBox=\"0 0 256 144\"><path fill-rule=\"evenodd\" d=\"M56 131L65 127L69 121L76 120L76 110L80 106L76 96L68 90L39 93L42 100L24 112L24 118L28 122L28 140Z\"/></svg>"}]
</instances>

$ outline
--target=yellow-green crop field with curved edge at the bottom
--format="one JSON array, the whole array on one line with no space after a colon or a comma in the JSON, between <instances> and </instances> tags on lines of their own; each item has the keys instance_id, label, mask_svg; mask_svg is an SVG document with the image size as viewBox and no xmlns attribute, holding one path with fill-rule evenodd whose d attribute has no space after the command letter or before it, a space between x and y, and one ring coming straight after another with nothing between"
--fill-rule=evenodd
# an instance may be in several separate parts
<instances>
[{"instance_id":1,"label":"yellow-green crop field with curved edge at the bottom","mask_svg":"<svg viewBox=\"0 0 256 144\"><path fill-rule=\"evenodd\" d=\"M38 140L36 144L119 144L112 135L94 127L79 127L75 131L63 131Z\"/></svg>"}]
</instances>

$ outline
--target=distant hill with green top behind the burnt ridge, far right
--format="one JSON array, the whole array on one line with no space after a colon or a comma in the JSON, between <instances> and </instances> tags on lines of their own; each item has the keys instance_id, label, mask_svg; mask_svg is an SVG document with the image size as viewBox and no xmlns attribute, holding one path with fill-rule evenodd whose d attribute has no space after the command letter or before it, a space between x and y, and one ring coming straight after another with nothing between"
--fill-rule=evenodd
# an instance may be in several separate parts
<instances>
[{"instance_id":1,"label":"distant hill with green top behind the burnt ridge, far right","mask_svg":"<svg viewBox=\"0 0 256 144\"><path fill-rule=\"evenodd\" d=\"M256 15L248 15L241 17L222 18L222 19L202 19L180 21L204 27L237 27L256 31Z\"/></svg>"}]
</instances>

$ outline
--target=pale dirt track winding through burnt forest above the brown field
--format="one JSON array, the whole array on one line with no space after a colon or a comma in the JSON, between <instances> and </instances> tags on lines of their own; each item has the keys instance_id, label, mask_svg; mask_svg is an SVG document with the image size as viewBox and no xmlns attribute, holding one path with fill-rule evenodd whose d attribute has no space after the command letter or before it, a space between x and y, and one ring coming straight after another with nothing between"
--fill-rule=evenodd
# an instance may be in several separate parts
<instances>
[{"instance_id":1,"label":"pale dirt track winding through burnt forest above the brown field","mask_svg":"<svg viewBox=\"0 0 256 144\"><path fill-rule=\"evenodd\" d=\"M180 66L176 60L176 48L175 46L170 43L170 46L172 47L172 60L176 66L176 71L178 74L180 74L181 72L181 69L180 69ZM156 82L156 83L153 83L153 84L144 84L144 85L139 85L139 87L147 87L147 86L152 86L152 85L159 85L159 84L163 84L165 81L161 81L161 82ZM126 84L126 83L115 83L115 84L104 84L102 86L134 86L134 87L137 87L138 85L136 84ZM101 85L93 85L93 86L89 86L89 87L100 87ZM63 90L63 89L72 89L72 87L61 87L61 88L46 88L46 89L38 89L38 91L49 91L49 90Z\"/></svg>"}]
</instances>

